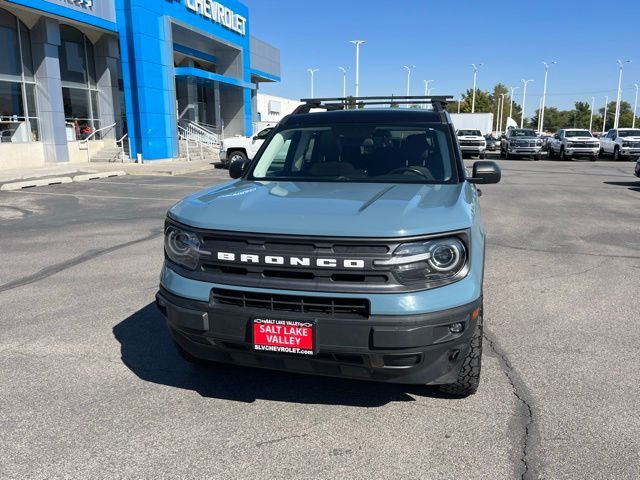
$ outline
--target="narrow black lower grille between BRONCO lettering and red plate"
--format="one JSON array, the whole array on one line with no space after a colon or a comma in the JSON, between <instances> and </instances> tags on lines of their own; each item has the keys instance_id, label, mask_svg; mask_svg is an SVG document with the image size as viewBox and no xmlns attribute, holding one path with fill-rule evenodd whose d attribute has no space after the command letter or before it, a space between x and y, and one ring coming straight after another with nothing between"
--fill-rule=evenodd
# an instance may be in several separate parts
<instances>
[{"instance_id":1,"label":"narrow black lower grille between BRONCO lettering and red plate","mask_svg":"<svg viewBox=\"0 0 640 480\"><path fill-rule=\"evenodd\" d=\"M242 292L214 288L214 304L272 312L330 315L332 317L368 318L370 305L367 299L307 297L302 295L273 295L269 293Z\"/></svg>"}]
</instances>

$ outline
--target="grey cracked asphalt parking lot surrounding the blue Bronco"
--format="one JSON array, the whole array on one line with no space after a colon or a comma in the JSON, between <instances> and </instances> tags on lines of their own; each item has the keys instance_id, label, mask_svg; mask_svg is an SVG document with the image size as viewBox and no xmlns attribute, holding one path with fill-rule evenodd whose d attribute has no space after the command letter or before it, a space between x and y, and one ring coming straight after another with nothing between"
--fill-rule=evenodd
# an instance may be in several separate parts
<instances>
[{"instance_id":1,"label":"grey cracked asphalt parking lot surrounding the blue Bronco","mask_svg":"<svg viewBox=\"0 0 640 480\"><path fill-rule=\"evenodd\" d=\"M633 163L499 163L464 400L181 360L164 213L224 171L1 192L0 477L639 478Z\"/></svg>"}]
</instances>

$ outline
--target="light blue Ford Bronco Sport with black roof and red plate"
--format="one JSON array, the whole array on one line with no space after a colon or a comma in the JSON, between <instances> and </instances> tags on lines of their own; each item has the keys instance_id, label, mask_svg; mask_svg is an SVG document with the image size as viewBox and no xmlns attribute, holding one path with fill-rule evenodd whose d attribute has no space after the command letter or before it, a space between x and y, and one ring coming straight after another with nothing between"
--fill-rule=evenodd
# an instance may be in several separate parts
<instances>
[{"instance_id":1,"label":"light blue Ford Bronco Sport with black roof and red plate","mask_svg":"<svg viewBox=\"0 0 640 480\"><path fill-rule=\"evenodd\" d=\"M474 184L501 173L488 161L465 170L448 100L304 100L253 160L232 163L235 180L173 206L156 301L179 353L475 393Z\"/></svg>"}]
</instances>

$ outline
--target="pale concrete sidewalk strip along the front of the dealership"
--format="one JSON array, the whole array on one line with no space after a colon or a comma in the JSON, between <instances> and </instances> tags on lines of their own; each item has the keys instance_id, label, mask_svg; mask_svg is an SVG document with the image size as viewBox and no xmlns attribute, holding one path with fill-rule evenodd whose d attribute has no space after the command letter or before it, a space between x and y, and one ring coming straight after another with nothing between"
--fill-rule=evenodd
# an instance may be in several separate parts
<instances>
[{"instance_id":1,"label":"pale concrete sidewalk strip along the front of the dealership","mask_svg":"<svg viewBox=\"0 0 640 480\"><path fill-rule=\"evenodd\" d=\"M215 170L209 161L161 162L161 163L74 163L46 165L41 167L0 170L0 185L33 179L73 177L88 173L124 172L127 175L184 175L187 173Z\"/></svg>"}]
</instances>

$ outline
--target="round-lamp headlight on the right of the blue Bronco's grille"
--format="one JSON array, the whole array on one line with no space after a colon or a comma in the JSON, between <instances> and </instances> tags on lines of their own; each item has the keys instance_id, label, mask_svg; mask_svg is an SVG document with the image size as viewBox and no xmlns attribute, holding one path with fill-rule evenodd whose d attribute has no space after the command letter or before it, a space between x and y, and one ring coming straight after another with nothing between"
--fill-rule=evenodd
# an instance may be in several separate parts
<instances>
[{"instance_id":1,"label":"round-lamp headlight on the right of the blue Bronco's grille","mask_svg":"<svg viewBox=\"0 0 640 480\"><path fill-rule=\"evenodd\" d=\"M376 266L393 267L403 284L427 283L440 286L462 277L467 265L467 249L458 238L439 238L400 245L390 260Z\"/></svg>"}]
</instances>

